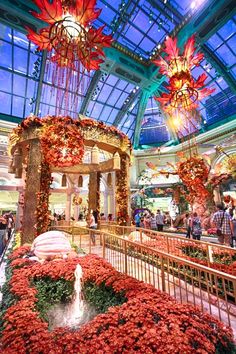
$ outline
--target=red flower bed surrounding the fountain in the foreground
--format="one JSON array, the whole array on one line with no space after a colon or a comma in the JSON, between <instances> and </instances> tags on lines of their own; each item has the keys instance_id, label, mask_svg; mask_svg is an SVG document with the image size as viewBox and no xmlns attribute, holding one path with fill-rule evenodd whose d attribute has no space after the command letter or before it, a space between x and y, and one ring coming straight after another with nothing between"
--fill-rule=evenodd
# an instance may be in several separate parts
<instances>
[{"instance_id":1,"label":"red flower bed surrounding the fountain in the foreground","mask_svg":"<svg viewBox=\"0 0 236 354\"><path fill-rule=\"evenodd\" d=\"M9 257L1 348L5 354L234 352L231 329L217 319L117 272L98 256L40 264L22 258L28 250L21 247ZM85 298L105 313L78 330L49 331L35 283L60 281L63 289L71 289L77 264L83 269ZM44 301L47 304L46 296Z\"/></svg>"}]
</instances>

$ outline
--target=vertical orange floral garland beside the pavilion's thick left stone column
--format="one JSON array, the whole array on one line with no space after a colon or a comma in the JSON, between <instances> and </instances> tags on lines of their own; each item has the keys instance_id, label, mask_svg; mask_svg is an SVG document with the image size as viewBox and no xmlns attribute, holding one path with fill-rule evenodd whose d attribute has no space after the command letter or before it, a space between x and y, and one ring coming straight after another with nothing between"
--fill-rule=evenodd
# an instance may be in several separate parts
<instances>
[{"instance_id":1,"label":"vertical orange floral garland beside the pavilion's thick left stone column","mask_svg":"<svg viewBox=\"0 0 236 354\"><path fill-rule=\"evenodd\" d=\"M40 192L37 193L36 225L35 236L46 232L49 220L48 204L50 195L50 185L53 181L51 169L48 163L41 163Z\"/></svg>"}]
</instances>

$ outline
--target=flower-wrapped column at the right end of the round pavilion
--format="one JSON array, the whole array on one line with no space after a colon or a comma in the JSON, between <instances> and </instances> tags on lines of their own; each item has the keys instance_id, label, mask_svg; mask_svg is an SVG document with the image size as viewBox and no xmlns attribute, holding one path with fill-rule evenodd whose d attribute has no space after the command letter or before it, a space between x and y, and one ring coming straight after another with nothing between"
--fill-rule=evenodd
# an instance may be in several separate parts
<instances>
[{"instance_id":1,"label":"flower-wrapped column at the right end of the round pavilion","mask_svg":"<svg viewBox=\"0 0 236 354\"><path fill-rule=\"evenodd\" d=\"M116 216L120 225L129 223L129 157L125 154L120 156L121 168L116 171Z\"/></svg>"}]
</instances>

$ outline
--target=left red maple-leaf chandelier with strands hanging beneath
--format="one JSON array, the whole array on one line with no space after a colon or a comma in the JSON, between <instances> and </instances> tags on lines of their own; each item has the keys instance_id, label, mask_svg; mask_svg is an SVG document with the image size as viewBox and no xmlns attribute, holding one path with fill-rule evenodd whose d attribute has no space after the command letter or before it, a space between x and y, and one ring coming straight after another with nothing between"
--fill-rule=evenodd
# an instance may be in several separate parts
<instances>
[{"instance_id":1,"label":"left red maple-leaf chandelier with strands hanging beneath","mask_svg":"<svg viewBox=\"0 0 236 354\"><path fill-rule=\"evenodd\" d=\"M89 73L99 69L105 56L103 49L111 45L112 37L102 33L104 26L96 29L91 25L101 12L95 9L96 0L34 0L34 3L40 13L32 11L33 16L48 26L39 33L26 29L28 39L38 50L49 53L46 81L52 82L56 91L56 114L76 111L78 97L86 89L86 70Z\"/></svg>"}]
</instances>

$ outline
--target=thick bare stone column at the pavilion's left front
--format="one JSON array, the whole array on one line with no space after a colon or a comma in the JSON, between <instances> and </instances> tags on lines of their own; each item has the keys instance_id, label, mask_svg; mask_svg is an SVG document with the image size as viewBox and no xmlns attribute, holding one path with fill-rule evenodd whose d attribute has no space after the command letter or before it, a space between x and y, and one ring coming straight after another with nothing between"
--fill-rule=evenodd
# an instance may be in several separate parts
<instances>
[{"instance_id":1,"label":"thick bare stone column at the pavilion's left front","mask_svg":"<svg viewBox=\"0 0 236 354\"><path fill-rule=\"evenodd\" d=\"M31 243L35 238L35 227L37 223L37 194L40 192L41 179L41 149L38 139L29 143L24 211L22 218L22 244Z\"/></svg>"}]
</instances>

